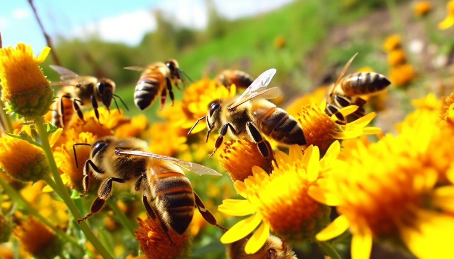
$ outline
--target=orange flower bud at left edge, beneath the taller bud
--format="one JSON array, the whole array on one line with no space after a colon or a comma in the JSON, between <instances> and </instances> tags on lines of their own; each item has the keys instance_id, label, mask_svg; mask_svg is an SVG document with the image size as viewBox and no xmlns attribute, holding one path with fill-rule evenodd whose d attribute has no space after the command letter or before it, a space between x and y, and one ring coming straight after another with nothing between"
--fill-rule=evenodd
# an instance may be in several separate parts
<instances>
[{"instance_id":1,"label":"orange flower bud at left edge, beneath the taller bud","mask_svg":"<svg viewBox=\"0 0 454 259\"><path fill-rule=\"evenodd\" d=\"M19 131L15 131L18 134ZM0 137L0 167L16 181L38 181L49 176L43 151L15 137Z\"/></svg>"}]
</instances>

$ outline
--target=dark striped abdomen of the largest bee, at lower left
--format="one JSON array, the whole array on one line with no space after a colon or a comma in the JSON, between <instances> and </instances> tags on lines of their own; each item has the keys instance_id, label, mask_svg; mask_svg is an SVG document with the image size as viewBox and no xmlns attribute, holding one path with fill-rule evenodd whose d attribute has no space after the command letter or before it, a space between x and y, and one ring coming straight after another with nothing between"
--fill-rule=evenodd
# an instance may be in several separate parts
<instances>
[{"instance_id":1,"label":"dark striped abdomen of the largest bee, at lower left","mask_svg":"<svg viewBox=\"0 0 454 259\"><path fill-rule=\"evenodd\" d=\"M178 234L183 234L192 220L195 208L191 182L182 173L166 172L150 179L156 208L162 219Z\"/></svg>"}]
</instances>

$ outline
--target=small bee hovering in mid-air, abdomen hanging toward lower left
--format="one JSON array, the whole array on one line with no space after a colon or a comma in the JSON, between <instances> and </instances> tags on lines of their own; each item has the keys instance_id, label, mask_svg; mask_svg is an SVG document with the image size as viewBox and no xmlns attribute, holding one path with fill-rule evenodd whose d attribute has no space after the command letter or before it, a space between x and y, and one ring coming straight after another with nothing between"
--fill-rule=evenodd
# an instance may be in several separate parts
<instances>
[{"instance_id":1,"label":"small bee hovering in mid-air, abdomen hanging toward lower left","mask_svg":"<svg viewBox=\"0 0 454 259\"><path fill-rule=\"evenodd\" d=\"M165 64L155 62L146 67L126 67L125 69L143 71L134 90L134 103L141 110L148 108L159 93L161 108L163 108L167 91L173 105L175 97L172 86L175 85L179 89L178 83L185 83L183 71L180 70L175 59L169 59Z\"/></svg>"}]
</instances>

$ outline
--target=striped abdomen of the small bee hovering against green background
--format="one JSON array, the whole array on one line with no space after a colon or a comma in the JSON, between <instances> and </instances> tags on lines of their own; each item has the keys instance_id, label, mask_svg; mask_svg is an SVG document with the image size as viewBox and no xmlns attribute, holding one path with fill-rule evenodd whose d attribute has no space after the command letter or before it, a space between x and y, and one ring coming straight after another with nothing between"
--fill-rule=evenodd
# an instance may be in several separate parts
<instances>
[{"instance_id":1,"label":"striped abdomen of the small bee hovering against green background","mask_svg":"<svg viewBox=\"0 0 454 259\"><path fill-rule=\"evenodd\" d=\"M143 73L134 90L134 103L141 110L148 108L163 88L164 76L161 73Z\"/></svg>"}]
</instances>

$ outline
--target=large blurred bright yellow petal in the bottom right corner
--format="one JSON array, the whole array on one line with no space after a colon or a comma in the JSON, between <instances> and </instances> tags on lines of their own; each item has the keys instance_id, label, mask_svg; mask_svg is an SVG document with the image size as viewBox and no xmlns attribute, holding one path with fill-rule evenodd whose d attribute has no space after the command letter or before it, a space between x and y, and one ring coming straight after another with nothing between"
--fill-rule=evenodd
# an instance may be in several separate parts
<instances>
[{"instance_id":1,"label":"large blurred bright yellow petal in the bottom right corner","mask_svg":"<svg viewBox=\"0 0 454 259\"><path fill-rule=\"evenodd\" d=\"M401 237L419 259L454 258L454 217L430 211L419 211L418 228L404 228Z\"/></svg>"}]
</instances>

